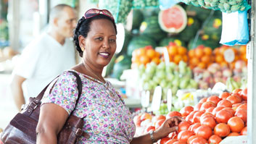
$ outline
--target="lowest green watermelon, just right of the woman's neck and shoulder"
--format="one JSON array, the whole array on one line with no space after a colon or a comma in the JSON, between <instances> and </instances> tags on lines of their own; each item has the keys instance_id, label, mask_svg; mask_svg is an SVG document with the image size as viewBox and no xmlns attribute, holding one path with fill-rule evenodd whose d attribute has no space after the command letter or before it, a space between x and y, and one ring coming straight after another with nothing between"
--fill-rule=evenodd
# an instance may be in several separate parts
<instances>
[{"instance_id":1,"label":"lowest green watermelon, just right of the woman's neck and shoulder","mask_svg":"<svg viewBox=\"0 0 256 144\"><path fill-rule=\"evenodd\" d=\"M113 67L112 77L115 77L118 80L120 80L120 77L123 74L123 71L125 69L131 69L131 56L127 56L127 55L118 56L115 62L116 63L114 64L114 67Z\"/></svg>"}]
</instances>

